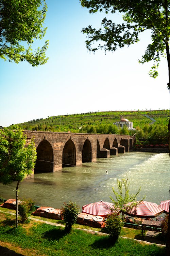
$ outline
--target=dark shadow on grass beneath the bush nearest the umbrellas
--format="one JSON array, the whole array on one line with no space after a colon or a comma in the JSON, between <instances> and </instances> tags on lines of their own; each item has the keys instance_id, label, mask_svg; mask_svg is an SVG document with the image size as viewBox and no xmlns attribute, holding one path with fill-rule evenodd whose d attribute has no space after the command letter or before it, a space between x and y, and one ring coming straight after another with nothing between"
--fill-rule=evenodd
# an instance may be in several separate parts
<instances>
[{"instance_id":1,"label":"dark shadow on grass beneath the bush nearest the umbrellas","mask_svg":"<svg viewBox=\"0 0 170 256\"><path fill-rule=\"evenodd\" d=\"M100 249L104 249L104 248L109 248L115 245L117 239L114 240L113 238L106 236L106 237L102 237L99 240L96 240L91 247L94 249L100 248Z\"/></svg>"}]
</instances>

